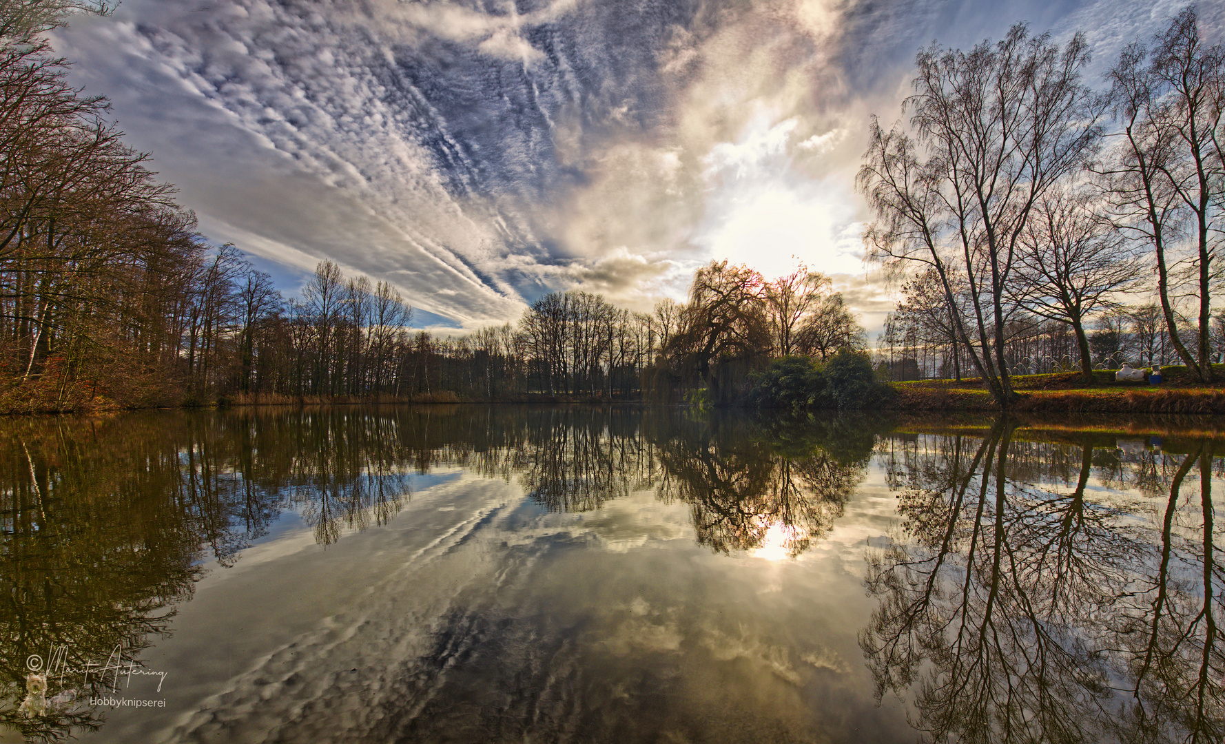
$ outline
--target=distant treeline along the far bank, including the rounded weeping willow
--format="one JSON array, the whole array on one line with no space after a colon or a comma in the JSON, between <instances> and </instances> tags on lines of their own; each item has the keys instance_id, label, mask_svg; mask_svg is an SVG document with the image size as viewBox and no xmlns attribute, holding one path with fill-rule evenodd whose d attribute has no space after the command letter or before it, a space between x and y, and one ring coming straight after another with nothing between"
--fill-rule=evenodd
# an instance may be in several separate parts
<instances>
[{"instance_id":1,"label":"distant treeline along the far bank, including the rounded weeping willow","mask_svg":"<svg viewBox=\"0 0 1225 744\"><path fill-rule=\"evenodd\" d=\"M236 400L337 396L417 401L742 400L753 373L778 355L824 359L862 348L865 333L828 277L799 268L773 282L713 262L695 275L686 303L653 313L586 292L554 292L516 324L441 337L407 327L412 309L385 283L344 278L325 261L301 299L267 277L218 272L217 321L205 344L201 391Z\"/></svg>"}]
</instances>

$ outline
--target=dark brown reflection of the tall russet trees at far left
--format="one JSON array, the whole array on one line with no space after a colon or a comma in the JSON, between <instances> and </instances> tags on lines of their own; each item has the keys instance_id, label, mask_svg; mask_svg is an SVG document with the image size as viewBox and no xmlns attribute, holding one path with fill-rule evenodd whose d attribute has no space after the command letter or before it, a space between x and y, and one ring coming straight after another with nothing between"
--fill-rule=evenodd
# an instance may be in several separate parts
<instances>
[{"instance_id":1,"label":"dark brown reflection of the tall russet trees at far left","mask_svg":"<svg viewBox=\"0 0 1225 744\"><path fill-rule=\"evenodd\" d=\"M98 429L33 420L0 433L0 724L31 739L97 728L82 699L104 683L59 667L102 663L116 647L115 661L131 662L167 632L200 572L206 537L176 452L138 427L126 446L98 447ZM34 672L49 704L22 710Z\"/></svg>"}]
</instances>

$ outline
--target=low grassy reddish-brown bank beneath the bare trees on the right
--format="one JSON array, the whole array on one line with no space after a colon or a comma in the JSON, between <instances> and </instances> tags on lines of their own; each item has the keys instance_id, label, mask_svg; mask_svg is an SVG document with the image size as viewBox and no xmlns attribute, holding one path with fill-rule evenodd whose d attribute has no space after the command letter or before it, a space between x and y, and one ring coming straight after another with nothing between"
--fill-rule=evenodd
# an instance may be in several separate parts
<instances>
[{"instance_id":1,"label":"low grassy reddish-brown bank beneath the bare trees on the right","mask_svg":"<svg viewBox=\"0 0 1225 744\"><path fill-rule=\"evenodd\" d=\"M1225 413L1225 365L1215 365L1218 382L1188 379L1186 368L1163 368L1165 381L1116 382L1115 373L1096 371L1085 382L1080 373L1018 375L1013 389L1022 395L1014 411L1034 413ZM998 411L980 380L920 380L891 382L893 411Z\"/></svg>"}]
</instances>

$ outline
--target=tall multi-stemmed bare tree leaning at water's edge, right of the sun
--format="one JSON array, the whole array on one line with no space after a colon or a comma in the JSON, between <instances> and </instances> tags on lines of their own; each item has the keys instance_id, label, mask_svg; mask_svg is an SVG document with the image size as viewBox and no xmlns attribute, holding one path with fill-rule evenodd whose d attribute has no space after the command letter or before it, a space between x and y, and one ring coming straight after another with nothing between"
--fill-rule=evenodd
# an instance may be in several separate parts
<instances>
[{"instance_id":1,"label":"tall multi-stemmed bare tree leaning at water's edge, right of the sun","mask_svg":"<svg viewBox=\"0 0 1225 744\"><path fill-rule=\"evenodd\" d=\"M1017 397L1006 287L1022 238L1038 201L1078 173L1100 135L1101 107L1080 82L1088 59L1083 36L1061 49L1024 23L968 53L924 49L904 104L914 136L873 120L859 173L876 212L864 235L871 257L933 267L954 308L951 276L965 277L973 314L958 336L1005 408Z\"/></svg>"}]
</instances>

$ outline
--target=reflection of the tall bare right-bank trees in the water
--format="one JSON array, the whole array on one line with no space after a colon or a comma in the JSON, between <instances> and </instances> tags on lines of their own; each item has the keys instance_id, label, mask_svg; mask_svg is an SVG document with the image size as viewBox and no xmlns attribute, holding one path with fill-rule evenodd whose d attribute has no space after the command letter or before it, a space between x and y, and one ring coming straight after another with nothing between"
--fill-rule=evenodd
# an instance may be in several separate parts
<instances>
[{"instance_id":1,"label":"reflection of the tall bare right-bank trees in the water","mask_svg":"<svg viewBox=\"0 0 1225 744\"><path fill-rule=\"evenodd\" d=\"M931 740L1220 742L1219 442L1025 435L883 445L904 522L870 555L877 694Z\"/></svg>"}]
</instances>

